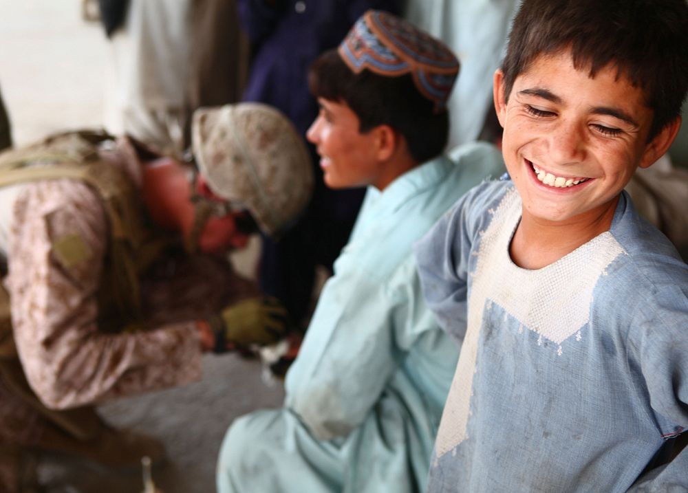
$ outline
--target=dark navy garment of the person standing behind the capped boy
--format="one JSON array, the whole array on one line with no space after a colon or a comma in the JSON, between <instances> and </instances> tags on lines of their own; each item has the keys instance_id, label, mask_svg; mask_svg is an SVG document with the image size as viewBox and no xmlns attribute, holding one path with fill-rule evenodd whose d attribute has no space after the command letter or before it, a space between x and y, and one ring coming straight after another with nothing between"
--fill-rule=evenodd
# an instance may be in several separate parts
<instances>
[{"instance_id":1,"label":"dark navy garment of the person standing behind the capped boy","mask_svg":"<svg viewBox=\"0 0 688 493\"><path fill-rule=\"evenodd\" d=\"M270 5L274 5L271 7ZM400 12L399 0L237 0L254 57L244 100L280 109L304 136L318 107L308 91L308 67L336 47L369 8ZM279 243L264 238L261 290L277 296L294 320L305 316L316 265L332 269L363 199L363 188L330 190L309 144L316 184L301 221Z\"/></svg>"}]
</instances>

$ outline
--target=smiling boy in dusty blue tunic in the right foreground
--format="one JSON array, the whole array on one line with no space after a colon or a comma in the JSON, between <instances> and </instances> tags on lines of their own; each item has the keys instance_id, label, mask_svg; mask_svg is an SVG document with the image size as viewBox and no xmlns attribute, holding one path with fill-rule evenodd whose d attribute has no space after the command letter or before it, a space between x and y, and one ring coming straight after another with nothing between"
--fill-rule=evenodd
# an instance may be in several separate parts
<instances>
[{"instance_id":1,"label":"smiling boy in dusty blue tunic in the right foreground","mask_svg":"<svg viewBox=\"0 0 688 493\"><path fill-rule=\"evenodd\" d=\"M416 250L462 340L429 492L688 488L688 452L664 454L688 428L688 267L623 192L680 126L687 30L685 0L522 3L494 79L511 181Z\"/></svg>"}]
</instances>

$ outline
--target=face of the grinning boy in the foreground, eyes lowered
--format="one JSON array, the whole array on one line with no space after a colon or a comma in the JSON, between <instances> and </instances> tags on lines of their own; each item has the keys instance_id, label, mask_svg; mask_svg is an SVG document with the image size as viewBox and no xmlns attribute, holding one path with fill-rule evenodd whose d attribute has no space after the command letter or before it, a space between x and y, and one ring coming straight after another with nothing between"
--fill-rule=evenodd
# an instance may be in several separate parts
<instances>
[{"instance_id":1,"label":"face of the grinning boy in the foreground, eyes lowered","mask_svg":"<svg viewBox=\"0 0 688 493\"><path fill-rule=\"evenodd\" d=\"M636 168L666 151L679 124L647 142L653 113L643 91L617 78L614 67L590 78L587 68L574 68L568 51L536 58L515 79L508 102L498 71L495 107L523 219L542 225L602 221L608 228Z\"/></svg>"}]
</instances>

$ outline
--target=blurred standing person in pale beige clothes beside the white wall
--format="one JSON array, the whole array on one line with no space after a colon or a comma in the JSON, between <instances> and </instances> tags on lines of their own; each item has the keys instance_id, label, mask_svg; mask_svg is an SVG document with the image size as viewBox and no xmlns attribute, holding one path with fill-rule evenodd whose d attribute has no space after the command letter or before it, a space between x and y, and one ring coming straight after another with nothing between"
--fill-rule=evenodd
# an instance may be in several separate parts
<instances>
[{"instance_id":1,"label":"blurred standing person in pale beige clothes beside the white wall","mask_svg":"<svg viewBox=\"0 0 688 493\"><path fill-rule=\"evenodd\" d=\"M165 153L190 145L191 115L236 102L248 40L234 0L99 0L111 40L105 122Z\"/></svg>"}]
</instances>

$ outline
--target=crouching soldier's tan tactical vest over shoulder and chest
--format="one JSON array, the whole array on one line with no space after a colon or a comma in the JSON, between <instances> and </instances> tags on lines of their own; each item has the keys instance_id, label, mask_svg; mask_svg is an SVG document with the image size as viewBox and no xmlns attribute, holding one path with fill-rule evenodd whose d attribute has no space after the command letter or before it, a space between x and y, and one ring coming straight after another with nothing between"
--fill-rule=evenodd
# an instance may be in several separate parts
<instances>
[{"instance_id":1,"label":"crouching soldier's tan tactical vest over shoulder and chest","mask_svg":"<svg viewBox=\"0 0 688 493\"><path fill-rule=\"evenodd\" d=\"M0 187L45 179L78 179L92 187L103 204L110 238L98 293L98 325L114 330L140 320L139 253L147 230L138 190L125 173L100 159L98 150L114 138L100 131L74 131L0 153ZM54 245L69 256L69 244ZM2 289L4 291L4 289ZM9 330L8 330L9 329ZM12 341L9 298L0 294L0 355L16 351Z\"/></svg>"}]
</instances>

